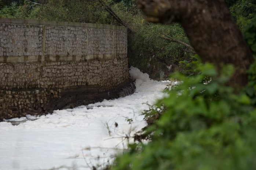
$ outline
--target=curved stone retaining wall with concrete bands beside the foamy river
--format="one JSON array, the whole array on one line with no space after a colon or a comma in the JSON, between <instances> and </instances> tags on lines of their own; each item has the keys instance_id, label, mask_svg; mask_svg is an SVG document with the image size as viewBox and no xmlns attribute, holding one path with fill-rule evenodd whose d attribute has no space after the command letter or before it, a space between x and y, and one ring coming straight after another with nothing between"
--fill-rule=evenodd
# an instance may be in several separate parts
<instances>
[{"instance_id":1,"label":"curved stone retaining wall with concrete bands beside the foamy river","mask_svg":"<svg viewBox=\"0 0 256 170\"><path fill-rule=\"evenodd\" d=\"M127 91L125 27L0 18L0 120Z\"/></svg>"}]
</instances>

